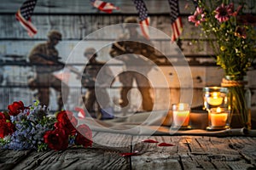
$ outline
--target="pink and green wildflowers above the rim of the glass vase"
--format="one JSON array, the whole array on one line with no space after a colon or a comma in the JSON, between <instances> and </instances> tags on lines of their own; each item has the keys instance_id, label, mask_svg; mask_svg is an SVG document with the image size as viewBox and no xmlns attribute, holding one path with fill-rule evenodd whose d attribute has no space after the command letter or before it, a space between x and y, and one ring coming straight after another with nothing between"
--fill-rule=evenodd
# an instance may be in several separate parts
<instances>
[{"instance_id":1,"label":"pink and green wildflowers above the rim of the glass vase","mask_svg":"<svg viewBox=\"0 0 256 170\"><path fill-rule=\"evenodd\" d=\"M201 26L204 35L211 41L217 65L225 75L245 76L256 58L256 20L245 14L248 8L244 1L194 0L195 14L188 20ZM254 23L251 23L254 22Z\"/></svg>"}]
</instances>

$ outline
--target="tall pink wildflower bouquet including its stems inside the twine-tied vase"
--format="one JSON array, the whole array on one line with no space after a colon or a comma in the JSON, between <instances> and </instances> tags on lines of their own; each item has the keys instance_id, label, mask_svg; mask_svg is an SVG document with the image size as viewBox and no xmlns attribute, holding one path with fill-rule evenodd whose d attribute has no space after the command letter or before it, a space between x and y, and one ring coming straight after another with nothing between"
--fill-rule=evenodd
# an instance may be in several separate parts
<instances>
[{"instance_id":1,"label":"tall pink wildflower bouquet including its stems inside the twine-tied vase","mask_svg":"<svg viewBox=\"0 0 256 170\"><path fill-rule=\"evenodd\" d=\"M250 95L245 90L248 68L256 58L256 20L245 14L245 1L195 0L195 14L189 21L201 26L224 69L222 86L229 88L231 114L238 114L242 127L250 127ZM235 7L236 6L236 7ZM253 23L254 22L254 23Z\"/></svg>"}]
</instances>

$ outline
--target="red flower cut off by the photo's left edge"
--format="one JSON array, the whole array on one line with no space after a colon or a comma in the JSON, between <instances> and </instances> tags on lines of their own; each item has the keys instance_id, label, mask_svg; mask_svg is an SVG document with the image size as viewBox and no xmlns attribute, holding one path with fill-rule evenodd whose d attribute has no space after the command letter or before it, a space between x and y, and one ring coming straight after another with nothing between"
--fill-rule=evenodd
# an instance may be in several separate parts
<instances>
[{"instance_id":1,"label":"red flower cut off by the photo's left edge","mask_svg":"<svg viewBox=\"0 0 256 170\"><path fill-rule=\"evenodd\" d=\"M5 136L15 132L15 125L0 112L0 138L3 139Z\"/></svg>"}]
</instances>

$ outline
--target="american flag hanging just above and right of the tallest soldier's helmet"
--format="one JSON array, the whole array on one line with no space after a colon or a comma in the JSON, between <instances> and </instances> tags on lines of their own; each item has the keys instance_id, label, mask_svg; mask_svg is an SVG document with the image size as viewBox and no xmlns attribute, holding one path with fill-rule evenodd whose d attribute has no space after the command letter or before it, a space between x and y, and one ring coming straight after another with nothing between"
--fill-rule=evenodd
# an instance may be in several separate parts
<instances>
[{"instance_id":1,"label":"american flag hanging just above and right of the tallest soldier's helmet","mask_svg":"<svg viewBox=\"0 0 256 170\"><path fill-rule=\"evenodd\" d=\"M143 36L149 39L148 26L150 24L150 19L148 17L148 10L146 5L143 0L133 0L133 3L135 4L139 14L140 27L143 32Z\"/></svg>"}]
</instances>

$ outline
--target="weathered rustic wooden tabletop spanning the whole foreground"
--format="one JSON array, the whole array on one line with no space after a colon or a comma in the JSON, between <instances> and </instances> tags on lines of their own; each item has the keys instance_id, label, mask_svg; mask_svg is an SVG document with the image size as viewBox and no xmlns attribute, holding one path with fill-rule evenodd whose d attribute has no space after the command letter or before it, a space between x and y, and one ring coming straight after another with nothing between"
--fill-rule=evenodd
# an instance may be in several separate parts
<instances>
[{"instance_id":1,"label":"weathered rustic wooden tabletop spanning the whole foreground","mask_svg":"<svg viewBox=\"0 0 256 170\"><path fill-rule=\"evenodd\" d=\"M0 169L256 169L256 138L144 136L94 133L92 147L49 150L0 150ZM140 140L142 139L142 140ZM137 156L122 153L138 151Z\"/></svg>"}]
</instances>

